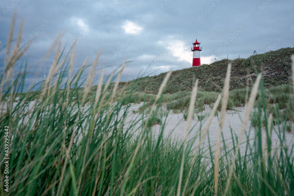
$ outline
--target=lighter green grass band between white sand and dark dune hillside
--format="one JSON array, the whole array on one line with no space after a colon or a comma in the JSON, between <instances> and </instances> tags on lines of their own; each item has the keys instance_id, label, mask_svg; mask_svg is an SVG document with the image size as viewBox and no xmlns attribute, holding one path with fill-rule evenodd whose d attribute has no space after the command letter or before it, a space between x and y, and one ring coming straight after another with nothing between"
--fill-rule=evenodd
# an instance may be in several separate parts
<instances>
[{"instance_id":1,"label":"lighter green grass band between white sand and dark dune hillside","mask_svg":"<svg viewBox=\"0 0 294 196\"><path fill-rule=\"evenodd\" d=\"M246 96L247 93L247 96ZM249 95L251 93L251 89L243 88L243 89L235 89L229 91L227 110L235 110L236 107L245 106L248 101ZM284 84L279 86L270 87L264 90L265 93L265 108L266 113L269 117L270 114L274 116L274 120L276 120L276 113L279 118L279 122L282 122L286 118L287 107L289 105L289 111L286 120L292 120L294 122L294 100L293 100L293 88L290 84ZM117 100L120 101L124 96L132 95L128 100L128 103L141 103L143 101L147 102L144 105L140 106L138 110L134 111L134 113L142 112L143 110L148 110L153 105L156 95L145 92L136 92L136 93L127 93L122 92L119 96L117 96ZM198 91L196 102L195 102L195 113L200 113L203 111L204 104L209 105L211 108L213 107L214 102L217 100L218 93L217 92L208 92L208 91ZM162 102L166 105L166 109L172 109L174 113L183 113L185 116L185 110L188 109L191 98L191 92L177 92L173 94L165 94L162 97ZM260 95L256 98L260 101ZM288 101L290 99L290 104ZM257 107L258 102L256 102L255 106ZM218 106L218 110L220 110L220 105ZM199 114L200 115L200 114ZM216 114L218 115L218 114ZM185 119L185 118L184 118ZM252 117L250 120L254 120L256 118ZM254 122L253 122L254 123ZM254 123L254 125L257 125Z\"/></svg>"}]
</instances>

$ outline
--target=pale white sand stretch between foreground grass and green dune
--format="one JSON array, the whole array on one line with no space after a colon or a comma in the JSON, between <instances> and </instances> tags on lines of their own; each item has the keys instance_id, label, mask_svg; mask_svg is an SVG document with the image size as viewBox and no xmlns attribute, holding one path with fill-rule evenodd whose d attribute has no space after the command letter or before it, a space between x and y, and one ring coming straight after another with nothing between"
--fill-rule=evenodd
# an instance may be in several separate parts
<instances>
[{"instance_id":1,"label":"pale white sand stretch between foreground grass and green dune","mask_svg":"<svg viewBox=\"0 0 294 196\"><path fill-rule=\"evenodd\" d=\"M15 106L16 104L18 104L18 102L13 103L13 105ZM36 101L31 101L29 103L29 107L28 109L31 110L33 107L35 107ZM133 123L134 121L138 121L139 119L142 118L142 114L136 113L133 114L132 110L138 110L138 108L143 105L143 102L141 102L140 104L131 104L131 107L128 110L128 115L126 118L126 126L125 129L128 128L128 125L130 125L130 123ZM85 106L83 109L87 110L90 106ZM245 106L246 107L246 106ZM236 135L240 135L240 128L242 125L242 119L244 117L245 114L245 107L238 107L235 108L235 110L228 110L226 115L225 115L225 122L224 122L224 127L223 127L223 136L226 140L226 145L228 146L229 149L231 149L233 147L233 143L232 143L232 135L231 135L231 131L230 128L232 129L233 134ZM0 109L2 108L2 105L0 107ZM4 108L6 108L6 104L4 104ZM162 107L163 111L166 110L166 108L163 106ZM210 114L211 113L211 108L208 105L205 105L205 110L202 112L203 114ZM254 109L253 109L254 111ZM6 112L6 110L3 110L3 112ZM122 116L124 113L123 110L120 111L119 116ZM207 117L201 121L198 120L196 114L195 114L195 118L194 120L192 120L191 123L191 133L188 135L188 137L191 139L194 136L199 134L199 130L200 127L201 129L203 129L206 125L206 121L208 119L208 115ZM214 150L214 145L216 144L216 136L217 136L217 128L218 128L218 118L219 117L213 117L211 125L209 127L208 130L208 136L209 136L209 140L210 140L210 144L212 147L212 149ZM28 119L26 119L28 120ZM166 127L164 129L164 135L165 137L174 139L174 138L184 138L185 134L186 134L186 126L187 126L187 121L185 121L183 119L183 114L182 113L178 113L178 114L174 114L172 112L172 110L169 112L168 117L164 116L163 117L163 121L166 120ZM139 130L140 129L140 125L141 125L142 121L140 121L139 123L137 123L133 130ZM282 128L283 125L280 125L280 128ZM138 133L138 130L136 133ZM159 131L161 130L161 125L154 125L153 126L153 132L155 135L159 134ZM243 142L247 141L247 137L246 135L249 135L249 139L250 139L250 145L253 146L253 140L255 138L255 129L253 127L251 127L251 123L250 120L247 122L246 125L246 129L245 129L245 135L243 136ZM278 126L274 126L273 130L272 130L272 144L273 147L276 145L279 145L279 137L278 135L282 134L282 132L280 132L278 130ZM263 128L262 131L262 138L263 138L263 144L265 143L265 128ZM288 133L285 132L285 142L287 145L292 146L294 143L294 134L293 133ZM197 137L194 145L197 146L199 142L199 136ZM236 140L235 140L236 143ZM223 143L222 143L223 144ZM206 136L204 142L203 142L204 147L208 146L208 137ZM244 149L246 147L246 143L242 144L240 149Z\"/></svg>"}]
</instances>

